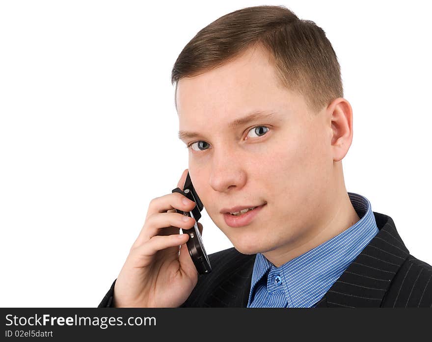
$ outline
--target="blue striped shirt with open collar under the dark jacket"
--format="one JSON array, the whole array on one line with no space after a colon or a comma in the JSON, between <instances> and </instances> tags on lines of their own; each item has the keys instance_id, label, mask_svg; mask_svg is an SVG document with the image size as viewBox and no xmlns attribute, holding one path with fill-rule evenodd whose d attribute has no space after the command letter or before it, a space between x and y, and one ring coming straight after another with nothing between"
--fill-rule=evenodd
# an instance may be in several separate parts
<instances>
[{"instance_id":1,"label":"blue striped shirt with open collar under the dark jacket","mask_svg":"<svg viewBox=\"0 0 432 342\"><path fill-rule=\"evenodd\" d=\"M279 267L257 254L248 308L310 308L324 297L379 231L369 200L348 196L360 220L341 234Z\"/></svg>"}]
</instances>

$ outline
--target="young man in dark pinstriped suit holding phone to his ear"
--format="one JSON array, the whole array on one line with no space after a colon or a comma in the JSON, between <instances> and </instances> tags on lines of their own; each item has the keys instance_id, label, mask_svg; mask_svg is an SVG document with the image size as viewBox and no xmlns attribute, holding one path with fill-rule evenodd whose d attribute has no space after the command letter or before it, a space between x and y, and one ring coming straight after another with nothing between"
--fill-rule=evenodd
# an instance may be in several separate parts
<instances>
[{"instance_id":1,"label":"young man in dark pinstriped suit holding phone to his ear","mask_svg":"<svg viewBox=\"0 0 432 342\"><path fill-rule=\"evenodd\" d=\"M229 13L187 44L172 81L192 183L234 248L198 277L178 234L194 220L174 210L194 204L158 197L100 307L431 307L431 265L346 190L352 110L320 27L283 6Z\"/></svg>"}]
</instances>

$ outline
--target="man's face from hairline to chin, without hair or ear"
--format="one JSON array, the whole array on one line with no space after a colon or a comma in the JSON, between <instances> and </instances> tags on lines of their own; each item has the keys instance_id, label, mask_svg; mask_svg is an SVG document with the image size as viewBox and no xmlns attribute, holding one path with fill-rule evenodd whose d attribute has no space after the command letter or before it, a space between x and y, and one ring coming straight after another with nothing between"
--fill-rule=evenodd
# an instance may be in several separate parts
<instances>
[{"instance_id":1,"label":"man's face from hairline to chin, without hair or ear","mask_svg":"<svg viewBox=\"0 0 432 342\"><path fill-rule=\"evenodd\" d=\"M331 121L279 85L264 49L181 79L177 110L180 131L198 134L182 138L192 143L195 189L238 251L296 248L317 234L334 183ZM257 111L272 114L232 125ZM235 207L258 208L248 217L223 213Z\"/></svg>"}]
</instances>

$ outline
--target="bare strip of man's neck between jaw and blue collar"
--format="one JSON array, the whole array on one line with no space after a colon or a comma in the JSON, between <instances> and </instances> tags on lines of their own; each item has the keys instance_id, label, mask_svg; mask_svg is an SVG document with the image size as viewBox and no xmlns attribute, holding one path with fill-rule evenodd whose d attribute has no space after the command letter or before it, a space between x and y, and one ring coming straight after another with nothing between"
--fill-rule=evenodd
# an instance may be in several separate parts
<instances>
[{"instance_id":1,"label":"bare strip of man's neck between jaw and blue collar","mask_svg":"<svg viewBox=\"0 0 432 342\"><path fill-rule=\"evenodd\" d=\"M336 211L327 218L326 222L320 227L313 229L310 234L303 236L301 241L297 241L295 246L282 246L265 252L263 255L270 263L279 267L321 245L332 237L341 234L357 223L360 218L352 207L350 197L346 191L345 195L346 196L343 196L341 201L335 205L334 208L336 208Z\"/></svg>"}]
</instances>

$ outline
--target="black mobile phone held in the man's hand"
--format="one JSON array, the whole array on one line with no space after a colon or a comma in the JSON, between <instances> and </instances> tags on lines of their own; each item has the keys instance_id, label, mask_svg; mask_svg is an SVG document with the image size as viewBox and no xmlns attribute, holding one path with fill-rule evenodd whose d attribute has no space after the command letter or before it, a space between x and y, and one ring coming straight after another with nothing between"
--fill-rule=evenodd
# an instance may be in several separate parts
<instances>
[{"instance_id":1,"label":"black mobile phone held in the man's hand","mask_svg":"<svg viewBox=\"0 0 432 342\"><path fill-rule=\"evenodd\" d=\"M182 229L182 232L184 233L186 231L186 233L189 235L189 240L188 242L186 242L186 245L188 247L190 258L192 258L196 270L199 274L209 274L212 271L212 267L210 266L209 257L207 256L206 250L202 243L201 234L198 230L198 220L201 218L201 210L203 210L204 206L199 199L195 188L193 187L192 181L190 180L189 172L186 176L183 191L179 187L176 187L171 192L179 192L189 198L189 200L195 202L195 207L191 211L182 211L176 209L176 212L195 219L195 224L193 225L193 228L185 230Z\"/></svg>"}]
</instances>

